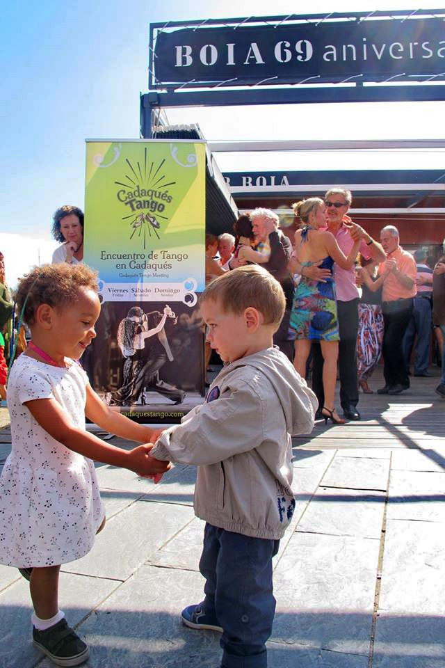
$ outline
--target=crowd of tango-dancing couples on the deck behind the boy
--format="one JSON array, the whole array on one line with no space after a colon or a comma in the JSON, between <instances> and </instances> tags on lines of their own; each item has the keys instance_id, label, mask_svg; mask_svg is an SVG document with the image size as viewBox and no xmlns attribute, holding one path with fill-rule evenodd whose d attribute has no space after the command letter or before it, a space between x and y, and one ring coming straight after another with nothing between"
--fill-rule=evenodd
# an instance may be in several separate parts
<instances>
[{"instance_id":1,"label":"crowd of tango-dancing couples on the deck behind the boy","mask_svg":"<svg viewBox=\"0 0 445 668\"><path fill-rule=\"evenodd\" d=\"M439 292L444 258L429 267L423 248L413 257L400 245L394 225L373 239L348 216L351 202L350 191L337 188L327 191L324 200L296 202L299 228L293 244L278 229L273 211L254 209L238 218L232 237L213 237L213 250L219 241L219 262L209 255L222 271L257 263L280 281L286 310L274 342L303 378L312 365L316 417L334 424L360 420L359 391L373 392L368 381L381 356L381 395L410 388L414 348L414 376L430 375L433 324L441 360L443 356L445 314ZM337 373L343 417L334 406ZM436 388L442 397L444 380Z\"/></svg>"}]
</instances>

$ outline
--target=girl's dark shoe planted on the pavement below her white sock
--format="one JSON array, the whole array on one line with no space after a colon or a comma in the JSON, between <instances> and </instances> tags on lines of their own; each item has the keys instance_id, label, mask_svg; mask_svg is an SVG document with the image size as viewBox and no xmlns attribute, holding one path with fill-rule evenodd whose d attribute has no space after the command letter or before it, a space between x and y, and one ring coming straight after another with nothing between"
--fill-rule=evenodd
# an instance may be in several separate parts
<instances>
[{"instance_id":1,"label":"girl's dark shoe planted on the pavement below her white sock","mask_svg":"<svg viewBox=\"0 0 445 668\"><path fill-rule=\"evenodd\" d=\"M68 626L65 617L46 631L33 626L33 644L57 666L78 666L90 655L90 648Z\"/></svg>"}]
</instances>

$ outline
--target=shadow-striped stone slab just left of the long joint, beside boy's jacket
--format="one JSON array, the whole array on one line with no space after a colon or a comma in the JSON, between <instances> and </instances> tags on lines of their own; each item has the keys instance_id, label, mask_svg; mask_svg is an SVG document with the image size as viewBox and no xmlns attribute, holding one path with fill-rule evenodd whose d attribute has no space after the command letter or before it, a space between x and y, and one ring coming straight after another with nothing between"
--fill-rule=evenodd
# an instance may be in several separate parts
<instances>
[{"instance_id":1,"label":"shadow-striped stone slab just left of the long joint, beside boy's jacket","mask_svg":"<svg viewBox=\"0 0 445 668\"><path fill-rule=\"evenodd\" d=\"M320 487L298 531L380 539L385 493Z\"/></svg>"}]
</instances>

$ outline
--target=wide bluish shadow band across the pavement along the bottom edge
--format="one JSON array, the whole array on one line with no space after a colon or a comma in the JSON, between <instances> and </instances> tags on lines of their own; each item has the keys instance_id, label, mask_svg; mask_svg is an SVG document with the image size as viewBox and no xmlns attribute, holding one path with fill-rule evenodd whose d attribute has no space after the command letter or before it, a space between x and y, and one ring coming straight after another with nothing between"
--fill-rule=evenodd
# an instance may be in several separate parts
<instances>
[{"instance_id":1,"label":"wide bluish shadow band across the pavement along the bottom edge","mask_svg":"<svg viewBox=\"0 0 445 668\"><path fill-rule=\"evenodd\" d=\"M105 606L86 618L83 610L66 610L71 624L83 618L76 630L90 645L86 668L218 668L220 635L184 627L179 608L170 614ZM29 614L24 607L1 608L0 668L34 668L42 662L31 644ZM366 668L370 635L371 614L278 611L268 667ZM378 621L373 667L443 668L444 638L444 617L385 613Z\"/></svg>"}]
</instances>

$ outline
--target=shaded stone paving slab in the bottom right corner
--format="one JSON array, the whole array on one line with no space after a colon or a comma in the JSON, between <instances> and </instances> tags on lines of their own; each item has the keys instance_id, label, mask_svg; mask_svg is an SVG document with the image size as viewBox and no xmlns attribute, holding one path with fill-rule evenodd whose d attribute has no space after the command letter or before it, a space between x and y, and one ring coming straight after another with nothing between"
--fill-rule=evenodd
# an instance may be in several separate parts
<instances>
[{"instance_id":1,"label":"shaded stone paving slab in the bottom right corner","mask_svg":"<svg viewBox=\"0 0 445 668\"><path fill-rule=\"evenodd\" d=\"M445 617L396 616L377 621L373 668L444 668Z\"/></svg>"}]
</instances>

